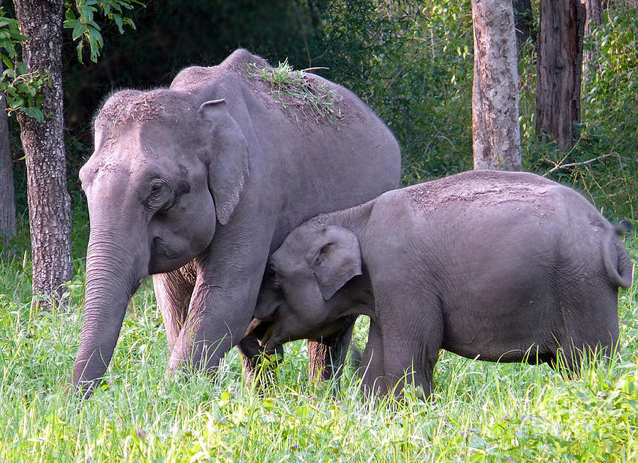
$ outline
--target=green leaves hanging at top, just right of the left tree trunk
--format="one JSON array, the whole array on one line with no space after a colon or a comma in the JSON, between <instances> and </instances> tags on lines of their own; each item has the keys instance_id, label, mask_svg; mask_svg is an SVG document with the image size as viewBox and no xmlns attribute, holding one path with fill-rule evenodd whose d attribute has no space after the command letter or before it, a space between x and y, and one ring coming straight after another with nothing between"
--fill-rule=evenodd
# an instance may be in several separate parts
<instances>
[{"instance_id":1,"label":"green leaves hanging at top, just right of the left tree trunk","mask_svg":"<svg viewBox=\"0 0 638 463\"><path fill-rule=\"evenodd\" d=\"M135 30L133 20L125 15L125 10L132 10L133 6L145 7L138 0L75 0L65 2L65 22L62 27L72 30L71 37L77 42L77 60L83 62L82 50L84 45L89 46L89 57L92 62L97 62L104 40L101 28L94 16L100 13L103 23L112 21L116 24L118 32L124 33L124 27Z\"/></svg>"}]
</instances>

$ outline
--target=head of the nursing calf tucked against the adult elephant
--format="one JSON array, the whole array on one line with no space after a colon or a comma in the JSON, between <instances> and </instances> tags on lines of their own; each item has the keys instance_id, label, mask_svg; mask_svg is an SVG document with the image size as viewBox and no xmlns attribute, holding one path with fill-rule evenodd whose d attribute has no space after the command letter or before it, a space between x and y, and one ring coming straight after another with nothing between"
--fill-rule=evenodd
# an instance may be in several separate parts
<instances>
[{"instance_id":1,"label":"head of the nursing calf tucked against the adult elephant","mask_svg":"<svg viewBox=\"0 0 638 463\"><path fill-rule=\"evenodd\" d=\"M289 234L269 265L271 275L246 332L259 326L255 333L267 348L329 336L341 328L342 317L360 313L357 304L366 299L369 285L360 276L359 239L349 229L304 224Z\"/></svg>"}]
</instances>

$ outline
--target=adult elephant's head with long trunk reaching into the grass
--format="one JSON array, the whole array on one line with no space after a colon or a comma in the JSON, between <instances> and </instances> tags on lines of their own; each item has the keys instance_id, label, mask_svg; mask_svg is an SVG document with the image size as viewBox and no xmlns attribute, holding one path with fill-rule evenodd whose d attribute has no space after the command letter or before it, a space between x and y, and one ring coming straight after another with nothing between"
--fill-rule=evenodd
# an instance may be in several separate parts
<instances>
[{"instance_id":1,"label":"adult elephant's head with long trunk reaching into the grass","mask_svg":"<svg viewBox=\"0 0 638 463\"><path fill-rule=\"evenodd\" d=\"M90 394L106 371L140 279L206 251L247 181L250 155L225 101L121 91L95 121L80 171L89 203L84 324L72 383Z\"/></svg>"}]
</instances>

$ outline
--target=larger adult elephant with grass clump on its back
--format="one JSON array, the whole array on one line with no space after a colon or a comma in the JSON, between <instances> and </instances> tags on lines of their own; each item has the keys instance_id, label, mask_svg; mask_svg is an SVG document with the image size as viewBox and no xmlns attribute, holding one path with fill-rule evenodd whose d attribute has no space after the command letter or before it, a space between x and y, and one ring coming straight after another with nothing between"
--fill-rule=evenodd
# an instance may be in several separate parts
<instances>
[{"instance_id":1,"label":"larger adult elephant with grass clump on its back","mask_svg":"<svg viewBox=\"0 0 638 463\"><path fill-rule=\"evenodd\" d=\"M353 93L306 74L335 91L342 113L318 120L274 101L248 63L268 66L237 50L219 66L184 69L168 89L115 93L96 118L95 152L80 171L91 233L72 382L85 396L141 278L153 275L170 370L213 371L242 341L286 234L398 186L396 140ZM253 366L257 342L241 348Z\"/></svg>"}]
</instances>

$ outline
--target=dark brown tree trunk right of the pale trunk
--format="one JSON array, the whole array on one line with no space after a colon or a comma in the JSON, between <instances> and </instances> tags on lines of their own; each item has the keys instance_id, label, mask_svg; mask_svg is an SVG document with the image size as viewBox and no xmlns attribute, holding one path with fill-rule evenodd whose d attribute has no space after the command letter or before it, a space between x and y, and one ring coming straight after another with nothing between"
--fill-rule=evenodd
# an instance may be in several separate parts
<instances>
[{"instance_id":1,"label":"dark brown tree trunk right of the pale trunk","mask_svg":"<svg viewBox=\"0 0 638 463\"><path fill-rule=\"evenodd\" d=\"M573 145L581 116L585 6L580 0L542 0L538 40L536 133L559 149ZM549 137L548 137L549 134Z\"/></svg>"}]
</instances>

